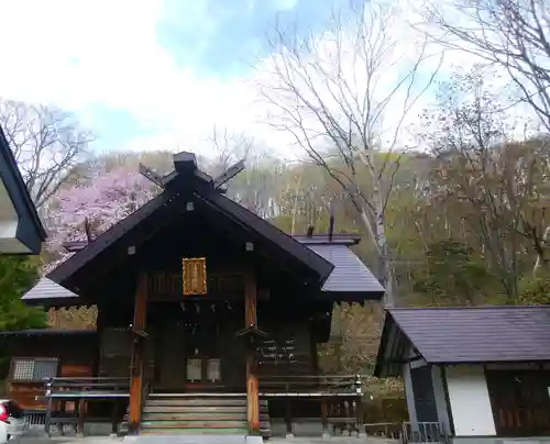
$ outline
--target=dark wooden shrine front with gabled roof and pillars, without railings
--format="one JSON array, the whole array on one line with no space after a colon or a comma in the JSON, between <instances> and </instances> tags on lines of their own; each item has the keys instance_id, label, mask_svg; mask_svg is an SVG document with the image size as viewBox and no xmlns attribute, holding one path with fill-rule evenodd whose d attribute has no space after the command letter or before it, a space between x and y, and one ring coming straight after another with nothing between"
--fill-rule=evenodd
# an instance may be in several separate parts
<instances>
[{"instance_id":1,"label":"dark wooden shrine front with gabled roof and pillars, without railings","mask_svg":"<svg viewBox=\"0 0 550 444\"><path fill-rule=\"evenodd\" d=\"M255 431L262 377L317 375L333 303L383 288L349 251L358 240L293 238L224 197L223 176L174 158L160 196L47 276L75 297L28 302L98 307L92 376L130 376L131 431L146 391L245 392ZM206 292L185 295L186 258L206 262Z\"/></svg>"}]
</instances>

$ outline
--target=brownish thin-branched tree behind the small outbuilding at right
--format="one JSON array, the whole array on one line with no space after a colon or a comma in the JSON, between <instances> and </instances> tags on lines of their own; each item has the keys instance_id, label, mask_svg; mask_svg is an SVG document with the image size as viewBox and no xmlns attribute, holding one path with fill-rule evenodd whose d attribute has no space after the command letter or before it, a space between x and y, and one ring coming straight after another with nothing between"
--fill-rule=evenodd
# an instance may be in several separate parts
<instances>
[{"instance_id":1,"label":"brownish thin-branched tree behind the small outbuilding at right","mask_svg":"<svg viewBox=\"0 0 550 444\"><path fill-rule=\"evenodd\" d=\"M487 91L487 74L474 68L454 73L426 112L425 141L437 156L430 199L451 204L484 247L509 301L518 298L520 240L546 263L543 208L550 177L548 143L516 142Z\"/></svg>"}]
</instances>

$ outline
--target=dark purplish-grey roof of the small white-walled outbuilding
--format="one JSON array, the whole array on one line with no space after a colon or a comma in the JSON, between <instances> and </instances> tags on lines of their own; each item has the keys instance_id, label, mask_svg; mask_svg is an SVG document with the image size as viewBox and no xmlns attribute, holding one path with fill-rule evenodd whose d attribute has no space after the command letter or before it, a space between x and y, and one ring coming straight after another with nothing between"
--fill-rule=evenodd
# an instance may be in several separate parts
<instances>
[{"instance_id":1,"label":"dark purplish-grey roof of the small white-walled outbuilding","mask_svg":"<svg viewBox=\"0 0 550 444\"><path fill-rule=\"evenodd\" d=\"M550 360L550 306L494 306L388 309L378 348L376 374L387 376L406 347L428 364Z\"/></svg>"}]
</instances>

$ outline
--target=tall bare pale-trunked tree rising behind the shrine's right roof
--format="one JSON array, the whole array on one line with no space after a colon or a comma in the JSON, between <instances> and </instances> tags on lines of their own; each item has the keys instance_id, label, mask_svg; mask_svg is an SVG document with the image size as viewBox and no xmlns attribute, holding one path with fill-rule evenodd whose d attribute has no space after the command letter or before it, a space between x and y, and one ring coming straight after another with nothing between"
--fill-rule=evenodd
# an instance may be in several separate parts
<instances>
[{"instance_id":1,"label":"tall bare pale-trunked tree rising behind the shrine's right roof","mask_svg":"<svg viewBox=\"0 0 550 444\"><path fill-rule=\"evenodd\" d=\"M433 57L426 41L417 58L398 54L394 34L398 11L366 2L345 22L333 14L330 33L297 38L280 29L271 41L272 77L258 89L274 112L268 124L294 138L308 157L339 184L355 208L380 257L387 304L394 304L394 270L385 235L385 211L399 168L399 135L407 114L432 84L441 65L427 76ZM406 56L409 56L408 54ZM391 73L399 75L387 87ZM385 92L381 92L385 91ZM387 124L393 118L386 142Z\"/></svg>"}]
</instances>

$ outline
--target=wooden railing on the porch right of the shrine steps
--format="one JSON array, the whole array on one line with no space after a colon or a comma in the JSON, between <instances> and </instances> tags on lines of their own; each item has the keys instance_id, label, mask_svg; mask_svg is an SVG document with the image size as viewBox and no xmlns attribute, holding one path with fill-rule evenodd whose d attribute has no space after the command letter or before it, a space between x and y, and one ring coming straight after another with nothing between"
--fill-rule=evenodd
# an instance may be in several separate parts
<instances>
[{"instance_id":1,"label":"wooden railing on the porch right of the shrine steps","mask_svg":"<svg viewBox=\"0 0 550 444\"><path fill-rule=\"evenodd\" d=\"M360 397L364 377L364 375L261 376L260 393L273 397Z\"/></svg>"}]
</instances>

